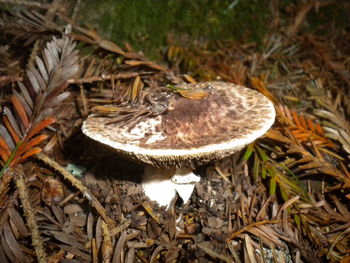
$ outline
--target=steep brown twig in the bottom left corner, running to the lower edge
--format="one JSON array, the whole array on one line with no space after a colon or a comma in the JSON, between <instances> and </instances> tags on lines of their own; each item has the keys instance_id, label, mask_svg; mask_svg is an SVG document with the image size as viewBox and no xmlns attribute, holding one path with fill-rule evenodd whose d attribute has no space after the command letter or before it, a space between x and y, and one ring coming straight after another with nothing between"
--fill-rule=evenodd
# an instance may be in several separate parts
<instances>
[{"instance_id":1,"label":"steep brown twig in the bottom left corner, running to the lower edge","mask_svg":"<svg viewBox=\"0 0 350 263\"><path fill-rule=\"evenodd\" d=\"M28 191L24 181L23 166L18 165L15 169L9 170L9 173L12 173L15 178L16 186L19 192L19 197L23 206L24 215L27 219L28 227L31 232L32 242L37 260L39 263L46 263L47 256L44 250L43 241L40 237L39 227L35 221L35 211L32 208L29 201Z\"/></svg>"}]
</instances>

